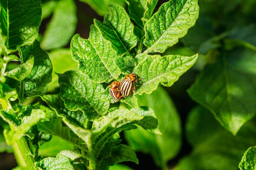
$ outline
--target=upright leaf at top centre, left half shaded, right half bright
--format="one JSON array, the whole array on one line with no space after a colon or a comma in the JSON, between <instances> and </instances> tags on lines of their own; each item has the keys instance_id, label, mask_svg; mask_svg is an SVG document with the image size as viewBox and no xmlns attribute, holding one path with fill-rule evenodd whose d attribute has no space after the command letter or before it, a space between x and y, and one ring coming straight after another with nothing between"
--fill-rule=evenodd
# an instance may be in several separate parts
<instances>
[{"instance_id":1,"label":"upright leaf at top centre, left half shaded, right half bright","mask_svg":"<svg viewBox=\"0 0 256 170\"><path fill-rule=\"evenodd\" d=\"M94 19L94 24L118 55L130 55L130 49L137 45L134 25L123 7L114 3L108 7L109 13L104 16L103 23Z\"/></svg>"}]
</instances>

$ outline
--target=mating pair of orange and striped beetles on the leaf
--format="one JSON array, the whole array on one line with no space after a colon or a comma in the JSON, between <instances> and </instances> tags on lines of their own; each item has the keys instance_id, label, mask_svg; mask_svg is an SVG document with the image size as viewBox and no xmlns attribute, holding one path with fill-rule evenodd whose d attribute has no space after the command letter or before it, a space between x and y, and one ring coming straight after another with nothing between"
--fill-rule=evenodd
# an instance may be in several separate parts
<instances>
[{"instance_id":1,"label":"mating pair of orange and striped beetles on the leaf","mask_svg":"<svg viewBox=\"0 0 256 170\"><path fill-rule=\"evenodd\" d=\"M140 80L141 78L139 78ZM130 73L126 75L119 83L118 81L114 81L109 86L109 93L111 97L115 100L120 100L123 97L128 97L133 94L135 91L135 84L137 82L137 75L134 73Z\"/></svg>"}]
</instances>

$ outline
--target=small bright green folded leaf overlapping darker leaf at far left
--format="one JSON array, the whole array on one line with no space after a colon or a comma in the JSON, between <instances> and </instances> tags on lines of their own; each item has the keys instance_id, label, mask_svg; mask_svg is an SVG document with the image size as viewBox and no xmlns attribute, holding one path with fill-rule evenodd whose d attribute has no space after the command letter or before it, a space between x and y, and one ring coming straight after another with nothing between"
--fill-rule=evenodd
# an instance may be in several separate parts
<instances>
[{"instance_id":1,"label":"small bright green folded leaf overlapping darker leaf at far left","mask_svg":"<svg viewBox=\"0 0 256 170\"><path fill-rule=\"evenodd\" d=\"M34 56L30 56L29 59L20 64L17 68L8 71L6 75L18 81L22 81L31 74L32 68L34 66Z\"/></svg>"}]
</instances>

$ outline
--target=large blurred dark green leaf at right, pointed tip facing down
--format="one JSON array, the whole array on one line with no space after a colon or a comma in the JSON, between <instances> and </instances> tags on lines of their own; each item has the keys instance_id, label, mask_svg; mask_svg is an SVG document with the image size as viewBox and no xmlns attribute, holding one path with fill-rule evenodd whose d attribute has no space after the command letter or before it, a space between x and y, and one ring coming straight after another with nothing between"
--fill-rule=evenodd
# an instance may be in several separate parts
<instances>
[{"instance_id":1,"label":"large blurred dark green leaf at right, pointed tip facing down","mask_svg":"<svg viewBox=\"0 0 256 170\"><path fill-rule=\"evenodd\" d=\"M256 53L230 51L205 67L188 93L234 135L256 113Z\"/></svg>"}]
</instances>

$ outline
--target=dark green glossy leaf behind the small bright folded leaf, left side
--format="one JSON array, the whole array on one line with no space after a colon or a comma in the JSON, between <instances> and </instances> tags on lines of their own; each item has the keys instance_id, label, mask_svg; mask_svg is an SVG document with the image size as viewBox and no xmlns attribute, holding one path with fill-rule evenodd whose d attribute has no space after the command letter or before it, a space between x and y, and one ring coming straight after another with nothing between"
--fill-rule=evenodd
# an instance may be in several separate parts
<instances>
[{"instance_id":1,"label":"dark green glossy leaf behind the small bright folded leaf, left side","mask_svg":"<svg viewBox=\"0 0 256 170\"><path fill-rule=\"evenodd\" d=\"M40 48L38 41L19 49L22 63L34 56L34 66L31 74L20 82L19 100L43 96L52 81L52 63L45 51Z\"/></svg>"}]
</instances>

